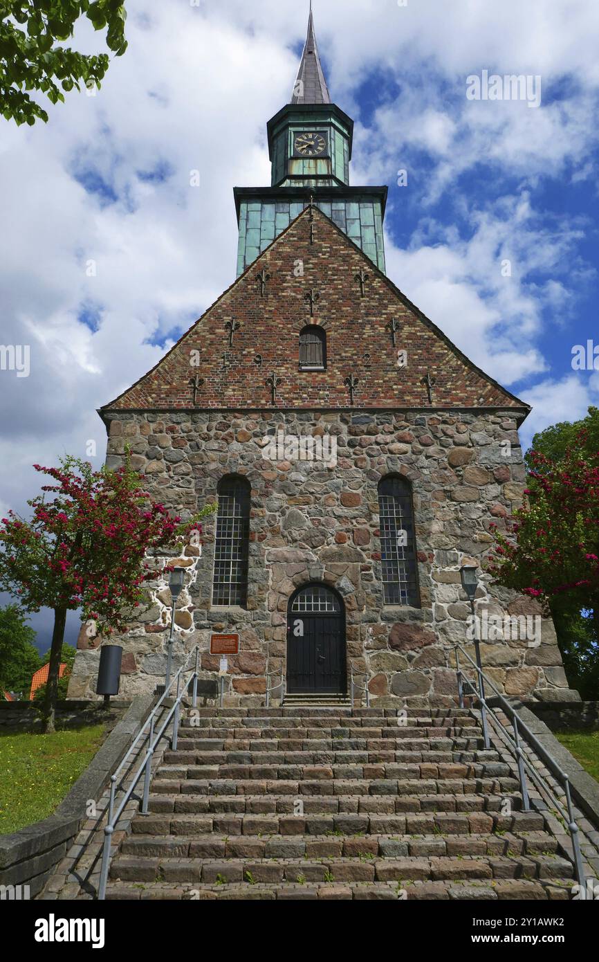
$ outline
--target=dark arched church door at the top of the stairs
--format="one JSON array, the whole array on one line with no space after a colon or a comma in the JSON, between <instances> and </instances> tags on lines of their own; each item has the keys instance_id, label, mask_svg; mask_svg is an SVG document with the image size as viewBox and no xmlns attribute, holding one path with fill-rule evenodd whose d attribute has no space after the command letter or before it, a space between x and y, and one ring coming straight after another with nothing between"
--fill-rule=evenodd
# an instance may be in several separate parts
<instances>
[{"instance_id":1,"label":"dark arched church door at the top of the stairs","mask_svg":"<svg viewBox=\"0 0 599 962\"><path fill-rule=\"evenodd\" d=\"M307 585L287 606L287 692L345 694L345 611L336 592Z\"/></svg>"}]
</instances>

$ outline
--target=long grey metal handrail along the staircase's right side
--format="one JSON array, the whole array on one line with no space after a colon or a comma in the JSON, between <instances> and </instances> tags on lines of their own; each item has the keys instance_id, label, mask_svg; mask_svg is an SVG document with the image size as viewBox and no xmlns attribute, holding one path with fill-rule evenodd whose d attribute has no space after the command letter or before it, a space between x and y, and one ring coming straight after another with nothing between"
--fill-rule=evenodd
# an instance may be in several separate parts
<instances>
[{"instance_id":1,"label":"long grey metal handrail along the staircase's right side","mask_svg":"<svg viewBox=\"0 0 599 962\"><path fill-rule=\"evenodd\" d=\"M531 808L529 794L528 794L528 785L526 781L526 772L530 774L532 780L537 785L537 788L541 792L541 794L544 794L546 797L548 797L551 803L556 806L558 813L562 817L562 821L567 825L568 831L570 833L570 838L572 840L572 852L574 856L572 861L574 863L574 869L576 872L577 880L579 884L583 886L583 889L584 889L586 885L586 879L585 879L585 870L583 868L583 856L582 856L581 847L580 847L580 837L579 837L580 829L574 818L574 808L572 806L572 797L570 793L570 779L568 778L568 775L566 774L566 772L562 771L562 769L560 768L556 760L551 756L551 754L547 751L547 749L543 745L541 745L541 743L538 741L535 733L532 732L531 729L528 727L528 725L526 725L525 722L522 721L517 711L513 708L513 706L508 701L508 699L501 694L501 692L497 689L496 685L491 681L491 679L487 676L487 674L485 674L485 672L481 668L479 668L477 663L474 661L474 659L470 657L470 655L462 647L462 645L456 645L455 651L456 651L456 671L458 674L458 697L459 697L460 707L463 708L464 694L466 695L473 694L478 698L478 701L481 705L481 720L483 722L483 733L484 733L486 748L490 747L490 741L488 738L488 729L487 729L487 715L490 715L493 721L499 725L501 729L502 737L508 743L508 746L510 747L510 749L512 750L512 753L515 755L515 758L516 758L516 762L518 766L518 779L520 782L520 790L522 794L523 811L528 812L530 811L530 808ZM462 671L462 668L460 666L460 654L459 654L460 651L462 651L462 655L467 659L467 661L470 662L470 665L472 666L472 668L477 672L478 682L479 682L478 692L474 687L474 683ZM470 693L464 692L464 682L469 687ZM494 708L491 705L489 705L487 701L487 697L485 696L484 682L493 691L494 696L500 702L501 708L512 721L513 738L508 732L505 725L501 722L500 718L495 713ZM520 735L524 736L528 745L534 748L534 750L541 757L541 759L544 761L547 767L551 770L551 772L553 772L557 780L562 784L563 792L566 799L567 811L563 807L562 802L556 796L555 792L553 791L551 786L548 784L546 779L544 779L539 774L539 772L537 772L537 769L532 765L530 760L524 754L522 747L520 746Z\"/></svg>"}]
</instances>

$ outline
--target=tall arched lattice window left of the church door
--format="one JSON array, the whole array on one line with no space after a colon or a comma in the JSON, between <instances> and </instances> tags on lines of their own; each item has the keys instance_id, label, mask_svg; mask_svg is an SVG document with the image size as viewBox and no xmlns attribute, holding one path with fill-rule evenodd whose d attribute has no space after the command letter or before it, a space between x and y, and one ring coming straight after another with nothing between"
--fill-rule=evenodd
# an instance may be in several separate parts
<instances>
[{"instance_id":1,"label":"tall arched lattice window left of the church door","mask_svg":"<svg viewBox=\"0 0 599 962\"><path fill-rule=\"evenodd\" d=\"M212 604L247 603L250 537L250 485L235 474L221 478L216 489L218 513L214 539Z\"/></svg>"}]
</instances>

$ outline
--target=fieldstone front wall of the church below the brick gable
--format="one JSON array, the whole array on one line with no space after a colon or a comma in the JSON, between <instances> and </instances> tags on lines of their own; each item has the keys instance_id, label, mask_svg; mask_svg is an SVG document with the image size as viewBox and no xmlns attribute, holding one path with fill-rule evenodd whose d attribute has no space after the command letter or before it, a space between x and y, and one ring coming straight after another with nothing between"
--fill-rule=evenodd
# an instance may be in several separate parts
<instances>
[{"instance_id":1,"label":"fieldstone front wall of the church below the brick gable","mask_svg":"<svg viewBox=\"0 0 599 962\"><path fill-rule=\"evenodd\" d=\"M299 586L319 581L343 597L348 669L367 671L380 705L418 697L456 695L453 646L466 637L469 604L462 564L484 563L490 525L522 503L524 466L513 414L493 411L217 411L105 413L108 465L122 463L129 444L133 465L152 493L180 514L215 500L228 473L252 486L247 609L212 608L214 519L205 525L202 556L188 548L177 564L189 570L177 606L178 664L199 644L202 673L213 678L218 656L212 632L236 631L240 653L229 657L227 705L262 704L266 672L285 667L287 601ZM325 439L329 461L272 460L273 437ZM284 452L285 454L286 452ZM389 472L412 483L421 607L383 603L377 485ZM189 554L188 552L191 552ZM193 551L196 556L193 556ZM125 638L121 696L153 691L164 675L170 594L156 562L151 606ZM479 570L479 616L540 616L537 603L489 584ZM515 622L514 622L515 623ZM483 641L483 664L509 695L550 701L567 698L567 682L553 624L542 620L535 640L495 626ZM85 645L85 643L84 643ZM94 697L99 652L78 652L69 696ZM274 682L275 679L273 679ZM571 694L571 693L570 693Z\"/></svg>"}]
</instances>

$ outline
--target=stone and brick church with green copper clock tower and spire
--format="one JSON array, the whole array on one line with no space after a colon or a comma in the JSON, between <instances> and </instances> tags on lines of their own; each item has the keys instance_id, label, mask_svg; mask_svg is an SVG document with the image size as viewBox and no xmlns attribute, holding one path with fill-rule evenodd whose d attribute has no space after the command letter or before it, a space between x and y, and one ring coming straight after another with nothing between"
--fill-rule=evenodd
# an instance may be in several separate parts
<instances>
[{"instance_id":1,"label":"stone and brick church with green copper clock tower and spire","mask_svg":"<svg viewBox=\"0 0 599 962\"><path fill-rule=\"evenodd\" d=\"M214 679L212 635L239 636L227 705L264 704L280 672L288 694L343 696L351 671L381 705L447 703L470 614L463 565L477 568L482 623L504 625L481 645L500 690L571 695L551 620L485 570L491 525L524 496L517 432L530 409L387 278L387 189L349 186L353 124L330 102L312 14L268 134L271 186L236 189L237 280L100 411L109 467L129 445L173 511L219 503L201 553L160 559L149 608L113 640L121 695L163 681L167 560L187 570L178 663L199 645ZM533 637L520 629L534 619ZM70 697L95 697L98 659L82 631Z\"/></svg>"}]
</instances>

